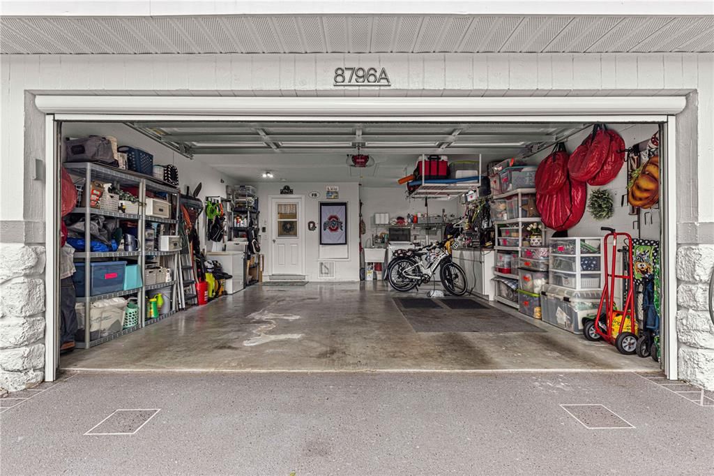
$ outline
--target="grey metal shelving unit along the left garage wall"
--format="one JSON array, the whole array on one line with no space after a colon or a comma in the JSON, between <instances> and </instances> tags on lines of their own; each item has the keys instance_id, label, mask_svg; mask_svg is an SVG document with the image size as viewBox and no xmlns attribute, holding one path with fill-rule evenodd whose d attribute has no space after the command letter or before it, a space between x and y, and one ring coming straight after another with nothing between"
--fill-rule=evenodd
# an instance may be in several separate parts
<instances>
[{"instance_id":1,"label":"grey metal shelving unit along the left garage wall","mask_svg":"<svg viewBox=\"0 0 714 476\"><path fill-rule=\"evenodd\" d=\"M101 164L95 164L92 162L66 162L63 164L64 168L69 172L74 174L79 174L84 177L85 183L85 193L82 197L84 203L82 207L76 207L72 213L84 215L85 223L91 221L93 216L104 216L115 219L125 219L131 220L137 223L137 230L141 231L140 236L137 238L141 241L141 249L134 252L116 251L116 252L75 252L74 258L79 260L84 260L84 297L78 297L77 302L84 302L84 342L77 342L77 347L84 347L89 349L96 345L102 344L104 342L109 342L110 340L116 339L123 335L134 332L136 329L141 329L147 323L146 320L146 292L152 289L159 289L164 287L171 287L171 312L164 314L156 319L151 319L152 322L169 317L176 312L176 279L175 276L180 269L176 269L177 260L174 259L174 280L171 282L151 284L143 287L138 287L134 289L125 289L117 292L110 292L105 294L98 294L96 296L91 296L91 262L95 259L102 258L129 258L135 259L136 264L139 264L141 273L144 274L146 270L146 257L164 257L164 256L178 256L178 252L161 252L146 250L144 245L143 232L146 229L146 222L158 222L164 224L172 224L176 226L178 223L178 211L180 205L180 194L176 187L172 187L169 184L159 183L153 177L149 177L143 174L137 174L136 172L131 172L128 170L114 169L113 167L106 167ZM98 181L102 183L112 183L117 187L136 187L139 191L139 203L144 204L146 202L146 191L151 190L152 192L164 192L169 194L169 201L173 202L173 206L176 209L176 217L174 218L164 218L164 217L153 217L144 214L144 207L140 206L141 213L139 214L129 214L123 213L119 210L105 210L99 208L93 208L90 206L91 200L91 182ZM173 199L172 199L173 198ZM90 227L85 227L84 231L84 241L85 243L91 243ZM144 276L142 276L143 281ZM136 294L139 297L139 313L140 319L139 323L132 327L127 327L126 329L121 329L119 332L110 334L99 339L91 340L91 304L97 302L101 299L110 299L112 297L124 297L131 294Z\"/></svg>"}]
</instances>

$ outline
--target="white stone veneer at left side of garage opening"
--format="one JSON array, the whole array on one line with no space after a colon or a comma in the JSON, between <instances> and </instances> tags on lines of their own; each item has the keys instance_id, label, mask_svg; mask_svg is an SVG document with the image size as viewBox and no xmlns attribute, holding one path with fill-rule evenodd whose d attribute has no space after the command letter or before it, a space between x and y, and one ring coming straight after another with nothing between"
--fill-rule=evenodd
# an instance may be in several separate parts
<instances>
[{"instance_id":1,"label":"white stone veneer at left side of garage opening","mask_svg":"<svg viewBox=\"0 0 714 476\"><path fill-rule=\"evenodd\" d=\"M0 389L44 380L45 249L0 244Z\"/></svg>"}]
</instances>

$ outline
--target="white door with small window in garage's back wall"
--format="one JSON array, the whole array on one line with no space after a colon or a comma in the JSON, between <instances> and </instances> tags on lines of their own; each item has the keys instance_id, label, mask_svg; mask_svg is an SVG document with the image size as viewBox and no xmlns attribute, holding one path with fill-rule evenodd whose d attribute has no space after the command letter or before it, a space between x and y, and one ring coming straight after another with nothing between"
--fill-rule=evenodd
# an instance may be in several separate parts
<instances>
[{"instance_id":1,"label":"white door with small window in garage's back wall","mask_svg":"<svg viewBox=\"0 0 714 476\"><path fill-rule=\"evenodd\" d=\"M303 200L273 198L271 202L272 274L303 275Z\"/></svg>"}]
</instances>

